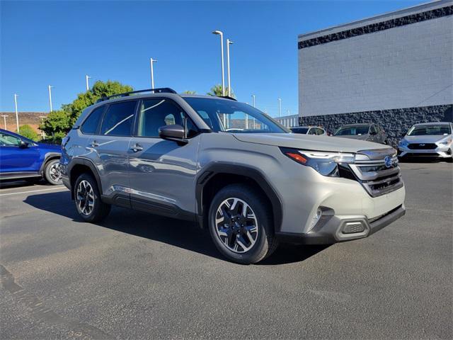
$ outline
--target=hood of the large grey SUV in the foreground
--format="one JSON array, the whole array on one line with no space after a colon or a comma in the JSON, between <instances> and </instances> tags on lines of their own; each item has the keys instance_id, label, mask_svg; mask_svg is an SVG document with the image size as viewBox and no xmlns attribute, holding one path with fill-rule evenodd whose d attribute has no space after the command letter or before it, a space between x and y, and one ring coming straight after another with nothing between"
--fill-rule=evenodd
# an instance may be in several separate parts
<instances>
[{"instance_id":1,"label":"hood of the large grey SUV in the foreground","mask_svg":"<svg viewBox=\"0 0 453 340\"><path fill-rule=\"evenodd\" d=\"M231 135L241 142L275 145L276 147L294 147L295 149L357 152L360 150L386 148L386 146L381 144L361 140L328 136L298 135L295 133L233 133Z\"/></svg>"}]
</instances>

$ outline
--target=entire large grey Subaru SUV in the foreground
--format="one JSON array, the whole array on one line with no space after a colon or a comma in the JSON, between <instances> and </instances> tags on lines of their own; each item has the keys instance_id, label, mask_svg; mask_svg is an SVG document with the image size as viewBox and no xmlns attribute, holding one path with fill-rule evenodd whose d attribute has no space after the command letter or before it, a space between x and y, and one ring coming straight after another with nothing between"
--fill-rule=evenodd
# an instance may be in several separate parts
<instances>
[{"instance_id":1,"label":"entire large grey Subaru SUV in the foreground","mask_svg":"<svg viewBox=\"0 0 453 340\"><path fill-rule=\"evenodd\" d=\"M405 213L391 147L290 133L231 98L147 91L101 99L62 142L87 222L111 205L197 221L226 258L255 263L281 240L360 239Z\"/></svg>"}]
</instances>

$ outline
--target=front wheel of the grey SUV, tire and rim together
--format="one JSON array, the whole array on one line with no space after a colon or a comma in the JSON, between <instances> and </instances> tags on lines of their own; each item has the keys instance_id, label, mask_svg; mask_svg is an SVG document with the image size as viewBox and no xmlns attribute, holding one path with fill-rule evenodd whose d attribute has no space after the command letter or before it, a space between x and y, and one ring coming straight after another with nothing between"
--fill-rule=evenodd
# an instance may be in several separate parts
<instances>
[{"instance_id":1,"label":"front wheel of the grey SUV, tire and rim together","mask_svg":"<svg viewBox=\"0 0 453 340\"><path fill-rule=\"evenodd\" d=\"M231 261L250 264L265 259L278 246L270 211L265 198L249 186L232 184L222 188L209 210L212 241Z\"/></svg>"}]
</instances>

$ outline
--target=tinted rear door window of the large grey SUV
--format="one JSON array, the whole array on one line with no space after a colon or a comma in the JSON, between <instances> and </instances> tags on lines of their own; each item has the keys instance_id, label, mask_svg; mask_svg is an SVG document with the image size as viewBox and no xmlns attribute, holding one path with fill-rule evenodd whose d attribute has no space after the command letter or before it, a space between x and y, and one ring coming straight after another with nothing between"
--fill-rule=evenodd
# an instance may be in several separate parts
<instances>
[{"instance_id":1,"label":"tinted rear door window of the large grey SUV","mask_svg":"<svg viewBox=\"0 0 453 340\"><path fill-rule=\"evenodd\" d=\"M136 101L111 104L105 113L101 135L130 136Z\"/></svg>"}]
</instances>

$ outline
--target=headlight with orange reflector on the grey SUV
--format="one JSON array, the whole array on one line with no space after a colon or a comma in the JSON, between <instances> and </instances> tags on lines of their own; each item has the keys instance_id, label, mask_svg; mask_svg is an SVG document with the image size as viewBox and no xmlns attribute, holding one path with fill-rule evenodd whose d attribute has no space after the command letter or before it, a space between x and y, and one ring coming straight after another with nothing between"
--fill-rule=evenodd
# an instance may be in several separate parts
<instances>
[{"instance_id":1,"label":"headlight with orange reflector on the grey SUV","mask_svg":"<svg viewBox=\"0 0 453 340\"><path fill-rule=\"evenodd\" d=\"M293 161L310 166L323 176L338 177L338 164L354 163L355 154L345 152L322 152L280 148Z\"/></svg>"}]
</instances>

